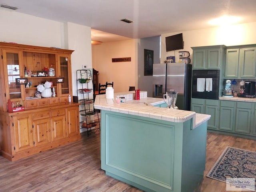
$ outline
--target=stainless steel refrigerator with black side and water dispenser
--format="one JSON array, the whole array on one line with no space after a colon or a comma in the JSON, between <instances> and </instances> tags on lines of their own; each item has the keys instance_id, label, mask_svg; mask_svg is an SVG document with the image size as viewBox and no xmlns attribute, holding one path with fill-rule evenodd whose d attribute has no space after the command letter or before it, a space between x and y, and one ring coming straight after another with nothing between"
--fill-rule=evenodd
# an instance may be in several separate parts
<instances>
[{"instance_id":1,"label":"stainless steel refrigerator with black side and water dispenser","mask_svg":"<svg viewBox=\"0 0 256 192\"><path fill-rule=\"evenodd\" d=\"M191 79L191 64L153 64L153 97L163 98L166 90L178 91L176 106L181 110L190 110Z\"/></svg>"}]
</instances>

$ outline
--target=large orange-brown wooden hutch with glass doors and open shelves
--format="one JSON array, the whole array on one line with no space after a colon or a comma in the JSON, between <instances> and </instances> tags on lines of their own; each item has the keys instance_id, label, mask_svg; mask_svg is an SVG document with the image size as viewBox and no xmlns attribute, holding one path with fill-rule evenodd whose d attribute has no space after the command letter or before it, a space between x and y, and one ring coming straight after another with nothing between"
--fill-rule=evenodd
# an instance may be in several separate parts
<instances>
[{"instance_id":1,"label":"large orange-brown wooden hutch with glass doors and open shelves","mask_svg":"<svg viewBox=\"0 0 256 192\"><path fill-rule=\"evenodd\" d=\"M0 146L1 155L8 160L81 138L79 104L73 98L68 101L72 96L72 52L0 42ZM49 76L50 67L55 74ZM36 97L38 84L46 81L52 83L54 97ZM22 105L24 110L10 112L14 105Z\"/></svg>"}]
</instances>

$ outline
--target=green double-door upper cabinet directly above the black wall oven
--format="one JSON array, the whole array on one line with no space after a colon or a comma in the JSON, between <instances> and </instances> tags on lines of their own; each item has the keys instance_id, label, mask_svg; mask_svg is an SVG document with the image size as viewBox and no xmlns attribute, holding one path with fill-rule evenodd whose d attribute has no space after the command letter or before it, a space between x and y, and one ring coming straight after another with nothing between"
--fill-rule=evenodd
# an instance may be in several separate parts
<instances>
[{"instance_id":1,"label":"green double-door upper cabinet directly above the black wall oven","mask_svg":"<svg viewBox=\"0 0 256 192\"><path fill-rule=\"evenodd\" d=\"M226 46L192 47L193 69L220 69L224 63Z\"/></svg>"}]
</instances>

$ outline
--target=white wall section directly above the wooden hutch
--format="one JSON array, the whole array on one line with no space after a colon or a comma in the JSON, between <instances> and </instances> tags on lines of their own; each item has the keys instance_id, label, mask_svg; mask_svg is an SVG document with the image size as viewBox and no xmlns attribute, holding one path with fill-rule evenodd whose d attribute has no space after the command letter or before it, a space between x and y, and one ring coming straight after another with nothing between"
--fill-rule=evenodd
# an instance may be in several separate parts
<instances>
[{"instance_id":1,"label":"white wall section directly above the wooden hutch","mask_svg":"<svg viewBox=\"0 0 256 192\"><path fill-rule=\"evenodd\" d=\"M2 42L64 48L60 22L0 9L0 23Z\"/></svg>"}]
</instances>

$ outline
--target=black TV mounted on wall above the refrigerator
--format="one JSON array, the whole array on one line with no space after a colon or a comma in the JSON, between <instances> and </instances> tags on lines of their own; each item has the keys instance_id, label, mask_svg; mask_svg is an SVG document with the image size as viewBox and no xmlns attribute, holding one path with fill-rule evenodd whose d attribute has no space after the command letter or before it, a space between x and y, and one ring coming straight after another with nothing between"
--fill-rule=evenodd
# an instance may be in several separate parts
<instances>
[{"instance_id":1,"label":"black TV mounted on wall above the refrigerator","mask_svg":"<svg viewBox=\"0 0 256 192\"><path fill-rule=\"evenodd\" d=\"M165 38L166 52L184 48L183 34L176 34Z\"/></svg>"}]
</instances>

